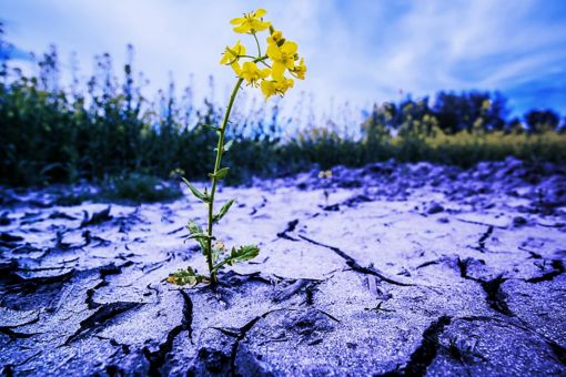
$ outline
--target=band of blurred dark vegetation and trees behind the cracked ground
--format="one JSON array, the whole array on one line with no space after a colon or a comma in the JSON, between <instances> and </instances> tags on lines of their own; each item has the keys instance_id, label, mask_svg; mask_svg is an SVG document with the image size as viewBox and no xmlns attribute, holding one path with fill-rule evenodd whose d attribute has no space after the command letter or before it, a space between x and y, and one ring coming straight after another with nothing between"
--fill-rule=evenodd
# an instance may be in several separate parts
<instances>
[{"instance_id":1,"label":"band of blurred dark vegetation and trees behind the cracked ground","mask_svg":"<svg viewBox=\"0 0 566 377\"><path fill-rule=\"evenodd\" d=\"M115 177L132 173L169 179L178 170L188 179L202 179L214 164L218 136L214 128L203 125L219 126L223 109L210 98L194 105L190 88L175 98L173 83L150 103L141 95L143 80L133 73L132 59L118 80L104 54L84 90L75 81L67 91L59 86L54 48L39 60L37 77L8 63L0 69L2 184L118 182ZM224 163L237 169L229 183L291 174L313 163L327 169L395 159L469 166L508 155L566 162L558 115L530 111L523 120L508 120L497 93L438 93L434 101L407 98L376 105L363 124L350 125L355 136L345 136L329 120L324 128L312 125L283 137L293 124L282 121L277 102L270 106L262 116L230 124L226 137L234 143ZM130 190L130 183L121 185L119 191Z\"/></svg>"}]
</instances>

